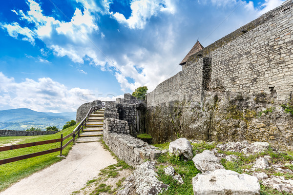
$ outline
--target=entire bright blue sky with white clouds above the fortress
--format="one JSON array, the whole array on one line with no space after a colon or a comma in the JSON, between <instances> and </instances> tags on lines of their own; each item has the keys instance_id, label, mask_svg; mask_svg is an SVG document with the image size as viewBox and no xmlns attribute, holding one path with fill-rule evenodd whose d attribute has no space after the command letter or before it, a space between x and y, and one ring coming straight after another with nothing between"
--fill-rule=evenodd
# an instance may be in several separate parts
<instances>
[{"instance_id":1,"label":"entire bright blue sky with white clouds above the fortress","mask_svg":"<svg viewBox=\"0 0 293 195\"><path fill-rule=\"evenodd\" d=\"M71 112L152 91L203 46L282 0L6 0L0 6L0 110Z\"/></svg>"}]
</instances>

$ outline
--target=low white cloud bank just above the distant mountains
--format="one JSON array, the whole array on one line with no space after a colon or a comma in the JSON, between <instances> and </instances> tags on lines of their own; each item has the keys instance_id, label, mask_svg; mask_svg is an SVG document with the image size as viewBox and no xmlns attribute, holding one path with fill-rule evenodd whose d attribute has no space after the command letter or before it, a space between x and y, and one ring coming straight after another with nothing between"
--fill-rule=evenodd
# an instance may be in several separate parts
<instances>
[{"instance_id":1,"label":"low white cloud bank just above the distant mountains","mask_svg":"<svg viewBox=\"0 0 293 195\"><path fill-rule=\"evenodd\" d=\"M88 89L69 89L51 78L26 78L16 82L0 72L0 83L0 108L10 105L12 108L30 108L42 112L75 112L81 104L95 99L105 101L122 98L113 95L99 97Z\"/></svg>"}]
</instances>

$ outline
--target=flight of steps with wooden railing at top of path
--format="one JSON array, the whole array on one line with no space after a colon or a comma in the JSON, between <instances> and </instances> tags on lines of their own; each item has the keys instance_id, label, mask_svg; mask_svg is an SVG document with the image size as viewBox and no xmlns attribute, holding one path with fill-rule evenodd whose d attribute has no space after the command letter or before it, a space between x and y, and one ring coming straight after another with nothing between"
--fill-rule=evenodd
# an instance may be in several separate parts
<instances>
[{"instance_id":1,"label":"flight of steps with wooden railing at top of path","mask_svg":"<svg viewBox=\"0 0 293 195\"><path fill-rule=\"evenodd\" d=\"M104 109L94 112L85 123L84 132L76 142L99 141L103 136Z\"/></svg>"}]
</instances>

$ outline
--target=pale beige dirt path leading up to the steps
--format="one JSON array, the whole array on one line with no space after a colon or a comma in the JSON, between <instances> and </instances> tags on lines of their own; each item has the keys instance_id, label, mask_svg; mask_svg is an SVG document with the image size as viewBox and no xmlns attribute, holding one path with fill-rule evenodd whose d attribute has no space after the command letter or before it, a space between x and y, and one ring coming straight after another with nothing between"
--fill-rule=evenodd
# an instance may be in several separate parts
<instances>
[{"instance_id":1,"label":"pale beige dirt path leading up to the steps","mask_svg":"<svg viewBox=\"0 0 293 195\"><path fill-rule=\"evenodd\" d=\"M22 179L0 195L70 195L115 163L101 142L78 143L65 159Z\"/></svg>"}]
</instances>

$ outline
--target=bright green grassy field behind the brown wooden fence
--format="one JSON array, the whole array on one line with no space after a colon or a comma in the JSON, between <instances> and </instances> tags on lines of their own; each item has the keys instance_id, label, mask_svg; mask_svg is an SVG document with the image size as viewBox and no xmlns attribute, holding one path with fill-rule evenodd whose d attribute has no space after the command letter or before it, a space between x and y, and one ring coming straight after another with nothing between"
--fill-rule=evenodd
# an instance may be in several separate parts
<instances>
[{"instance_id":1,"label":"bright green grassy field behind the brown wooden fence","mask_svg":"<svg viewBox=\"0 0 293 195\"><path fill-rule=\"evenodd\" d=\"M74 128L77 125L71 126L67 129L64 129L61 132L58 132L54 135L46 135L46 136L21 136L21 137L0 137L0 146L6 145L14 145L14 144L21 144L21 143L30 143L42 140L49 140L49 139L57 139L72 133ZM69 141L72 137L63 141L63 145ZM21 140L21 141L19 141ZM17 142L17 143L16 143ZM60 147L60 142L45 144L40 146L33 146L28 148L21 148L16 150L4 151L0 152L0 159L21 156L36 152L41 152L44 150L49 150L53 148ZM64 150L62 155L67 156L69 150L72 147L72 143L70 143ZM58 157L60 152L55 152L43 156L36 156L33 158L28 158L16 162L11 162L7 164L0 165L0 191L3 191L5 188L9 187L11 184L19 181L20 179L27 177L37 171L40 171L51 164L62 160L61 157Z\"/></svg>"}]
</instances>

